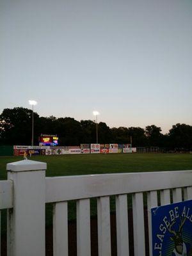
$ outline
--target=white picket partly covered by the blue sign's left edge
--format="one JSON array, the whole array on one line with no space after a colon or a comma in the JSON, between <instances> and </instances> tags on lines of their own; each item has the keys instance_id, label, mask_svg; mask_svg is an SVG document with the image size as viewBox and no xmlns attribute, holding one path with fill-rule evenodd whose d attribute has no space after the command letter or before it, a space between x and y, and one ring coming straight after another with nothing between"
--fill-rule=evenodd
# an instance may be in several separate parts
<instances>
[{"instance_id":1,"label":"white picket partly covered by the blue sign's left edge","mask_svg":"<svg viewBox=\"0 0 192 256\"><path fill-rule=\"evenodd\" d=\"M148 243L149 255L152 256L152 225L150 209L157 206L157 191L147 193L147 210L148 210Z\"/></svg>"}]
</instances>

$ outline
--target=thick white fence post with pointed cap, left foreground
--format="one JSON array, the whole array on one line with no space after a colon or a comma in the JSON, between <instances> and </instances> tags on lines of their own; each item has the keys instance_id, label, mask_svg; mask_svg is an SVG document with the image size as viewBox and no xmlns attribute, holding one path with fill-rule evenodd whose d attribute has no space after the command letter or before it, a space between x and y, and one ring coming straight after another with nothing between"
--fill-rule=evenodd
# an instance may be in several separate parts
<instances>
[{"instance_id":1,"label":"thick white fence post with pointed cap, left foreground","mask_svg":"<svg viewBox=\"0 0 192 256\"><path fill-rule=\"evenodd\" d=\"M8 210L8 256L45 255L45 170L31 160L9 163L13 209Z\"/></svg>"}]
</instances>

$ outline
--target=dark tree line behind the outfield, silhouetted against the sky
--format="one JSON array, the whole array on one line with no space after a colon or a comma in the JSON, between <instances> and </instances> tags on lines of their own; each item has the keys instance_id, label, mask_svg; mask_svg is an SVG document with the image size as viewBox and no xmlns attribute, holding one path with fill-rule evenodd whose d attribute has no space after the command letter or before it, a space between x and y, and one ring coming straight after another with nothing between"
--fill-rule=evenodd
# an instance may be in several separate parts
<instances>
[{"instance_id":1,"label":"dark tree line behind the outfield, silhouetted against the sky","mask_svg":"<svg viewBox=\"0 0 192 256\"><path fill-rule=\"evenodd\" d=\"M40 134L57 134L60 145L96 143L96 124L92 120L77 121L71 117L34 116L34 145ZM6 108L0 115L0 145L31 145L32 110ZM99 143L131 143L132 147L192 148L192 126L175 124L167 134L161 127L113 127L98 124Z\"/></svg>"}]
</instances>

